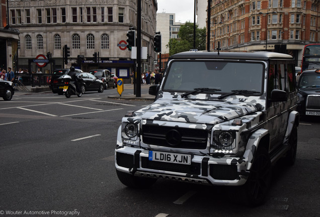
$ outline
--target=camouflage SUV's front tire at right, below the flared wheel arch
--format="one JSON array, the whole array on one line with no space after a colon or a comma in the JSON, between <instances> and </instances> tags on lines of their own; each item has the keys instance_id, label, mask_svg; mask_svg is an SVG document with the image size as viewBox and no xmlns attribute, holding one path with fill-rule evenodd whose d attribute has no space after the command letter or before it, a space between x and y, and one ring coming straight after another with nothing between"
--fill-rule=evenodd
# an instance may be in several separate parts
<instances>
[{"instance_id":1,"label":"camouflage SUV's front tire at right, below the flared wheel arch","mask_svg":"<svg viewBox=\"0 0 320 217\"><path fill-rule=\"evenodd\" d=\"M272 176L272 166L267 148L259 147L247 182L230 189L229 197L235 203L258 206L265 202Z\"/></svg>"}]
</instances>

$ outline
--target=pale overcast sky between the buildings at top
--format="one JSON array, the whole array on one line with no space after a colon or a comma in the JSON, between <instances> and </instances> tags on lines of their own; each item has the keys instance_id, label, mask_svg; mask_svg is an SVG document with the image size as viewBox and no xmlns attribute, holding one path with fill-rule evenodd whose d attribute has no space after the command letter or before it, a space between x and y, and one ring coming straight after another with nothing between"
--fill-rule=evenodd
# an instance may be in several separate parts
<instances>
[{"instance_id":1,"label":"pale overcast sky between the buildings at top","mask_svg":"<svg viewBox=\"0 0 320 217\"><path fill-rule=\"evenodd\" d=\"M194 20L194 0L157 0L156 13L175 13L176 21L185 23Z\"/></svg>"}]
</instances>

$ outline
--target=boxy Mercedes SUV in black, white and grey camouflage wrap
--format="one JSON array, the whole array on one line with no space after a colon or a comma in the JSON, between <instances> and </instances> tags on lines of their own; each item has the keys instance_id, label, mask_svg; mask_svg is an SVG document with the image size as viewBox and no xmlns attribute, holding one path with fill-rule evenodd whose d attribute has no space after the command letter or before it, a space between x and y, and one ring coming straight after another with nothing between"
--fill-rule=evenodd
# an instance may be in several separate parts
<instances>
[{"instance_id":1,"label":"boxy Mercedes SUV in black, white and grey camouflage wrap","mask_svg":"<svg viewBox=\"0 0 320 217\"><path fill-rule=\"evenodd\" d=\"M273 52L184 52L169 58L152 104L122 118L119 180L147 187L158 178L224 185L261 204L272 165L297 149L294 61ZM233 187L234 186L234 187Z\"/></svg>"}]
</instances>

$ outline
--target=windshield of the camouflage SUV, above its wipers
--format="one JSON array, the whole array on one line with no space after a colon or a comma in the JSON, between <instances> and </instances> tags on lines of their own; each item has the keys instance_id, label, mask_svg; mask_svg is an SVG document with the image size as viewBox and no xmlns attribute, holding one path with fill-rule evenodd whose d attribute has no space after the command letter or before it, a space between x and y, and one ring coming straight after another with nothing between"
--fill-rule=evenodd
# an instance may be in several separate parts
<instances>
[{"instance_id":1,"label":"windshield of the camouflage SUV, above its wipers","mask_svg":"<svg viewBox=\"0 0 320 217\"><path fill-rule=\"evenodd\" d=\"M189 92L195 88L213 88L221 90L219 94L234 90L261 93L263 73L264 65L260 62L174 61L163 89Z\"/></svg>"}]
</instances>

